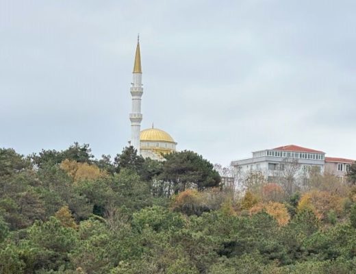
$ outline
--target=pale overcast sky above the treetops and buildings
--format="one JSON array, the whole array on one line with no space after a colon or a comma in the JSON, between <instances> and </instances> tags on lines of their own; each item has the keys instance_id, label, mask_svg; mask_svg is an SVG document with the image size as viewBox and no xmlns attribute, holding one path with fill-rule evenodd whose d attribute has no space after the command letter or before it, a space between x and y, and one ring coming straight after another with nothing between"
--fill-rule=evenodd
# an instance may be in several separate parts
<instances>
[{"instance_id":1,"label":"pale overcast sky above the treetops and buildings","mask_svg":"<svg viewBox=\"0 0 356 274\"><path fill-rule=\"evenodd\" d=\"M0 0L0 147L122 151L142 129L213 163L300 145L356 159L356 1Z\"/></svg>"}]
</instances>

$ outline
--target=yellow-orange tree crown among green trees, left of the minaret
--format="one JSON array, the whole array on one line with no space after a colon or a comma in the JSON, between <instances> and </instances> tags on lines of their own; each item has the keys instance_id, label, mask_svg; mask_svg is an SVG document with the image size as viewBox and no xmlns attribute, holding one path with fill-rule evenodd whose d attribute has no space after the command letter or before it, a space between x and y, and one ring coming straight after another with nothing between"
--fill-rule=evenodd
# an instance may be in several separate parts
<instances>
[{"instance_id":1,"label":"yellow-orange tree crown among green trees, left of the minaret","mask_svg":"<svg viewBox=\"0 0 356 274\"><path fill-rule=\"evenodd\" d=\"M84 179L97 179L105 173L100 171L99 167L93 164L81 163L71 160L64 160L60 164L61 169L66 171L75 182L79 182Z\"/></svg>"}]
</instances>

